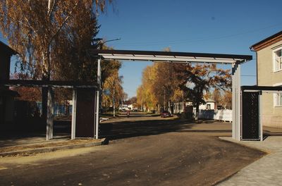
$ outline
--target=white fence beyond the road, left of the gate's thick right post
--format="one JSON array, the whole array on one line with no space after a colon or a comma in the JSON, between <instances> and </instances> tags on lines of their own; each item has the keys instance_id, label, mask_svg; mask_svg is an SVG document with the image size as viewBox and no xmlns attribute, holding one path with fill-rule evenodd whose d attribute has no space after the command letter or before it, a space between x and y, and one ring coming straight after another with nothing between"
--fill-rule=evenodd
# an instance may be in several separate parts
<instances>
[{"instance_id":1,"label":"white fence beyond the road, left of the gate's thick right post","mask_svg":"<svg viewBox=\"0 0 282 186\"><path fill-rule=\"evenodd\" d=\"M194 109L194 114L196 110ZM195 115L194 115L195 116ZM199 118L210 120L232 121L232 110L200 110Z\"/></svg>"}]
</instances>

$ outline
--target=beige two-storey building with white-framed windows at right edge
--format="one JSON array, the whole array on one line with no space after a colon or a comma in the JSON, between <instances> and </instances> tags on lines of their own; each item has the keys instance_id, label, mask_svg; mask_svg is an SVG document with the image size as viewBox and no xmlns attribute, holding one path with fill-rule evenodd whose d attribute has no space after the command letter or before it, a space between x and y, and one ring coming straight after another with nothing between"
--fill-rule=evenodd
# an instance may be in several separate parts
<instances>
[{"instance_id":1,"label":"beige two-storey building with white-framed windows at right edge","mask_svg":"<svg viewBox=\"0 0 282 186\"><path fill-rule=\"evenodd\" d=\"M250 47L257 53L257 85L282 86L282 31ZM282 94L262 94L262 123L282 128Z\"/></svg>"}]
</instances>

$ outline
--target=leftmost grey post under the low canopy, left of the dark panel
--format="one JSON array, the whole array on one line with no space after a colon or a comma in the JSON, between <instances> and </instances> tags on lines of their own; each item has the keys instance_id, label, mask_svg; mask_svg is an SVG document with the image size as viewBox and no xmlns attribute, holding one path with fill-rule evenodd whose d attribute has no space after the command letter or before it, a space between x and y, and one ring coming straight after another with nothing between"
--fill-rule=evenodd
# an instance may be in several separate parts
<instances>
[{"instance_id":1,"label":"leftmost grey post under the low canopy, left of the dark panel","mask_svg":"<svg viewBox=\"0 0 282 186\"><path fill-rule=\"evenodd\" d=\"M53 138L53 120L54 120L54 89L48 87L47 99L47 126L46 126L46 140Z\"/></svg>"}]
</instances>

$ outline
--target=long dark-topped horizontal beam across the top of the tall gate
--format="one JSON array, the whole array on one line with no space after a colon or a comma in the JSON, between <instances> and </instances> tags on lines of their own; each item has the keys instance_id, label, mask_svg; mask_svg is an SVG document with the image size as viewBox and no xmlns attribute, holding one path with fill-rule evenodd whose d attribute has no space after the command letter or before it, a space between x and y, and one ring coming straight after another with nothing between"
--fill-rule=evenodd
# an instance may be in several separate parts
<instances>
[{"instance_id":1,"label":"long dark-topped horizontal beam across the top of the tall gate","mask_svg":"<svg viewBox=\"0 0 282 186\"><path fill-rule=\"evenodd\" d=\"M106 60L129 61L161 61L175 63L244 63L252 60L252 56L236 54L207 54L173 51L133 51L133 50L97 50L93 56Z\"/></svg>"}]
</instances>

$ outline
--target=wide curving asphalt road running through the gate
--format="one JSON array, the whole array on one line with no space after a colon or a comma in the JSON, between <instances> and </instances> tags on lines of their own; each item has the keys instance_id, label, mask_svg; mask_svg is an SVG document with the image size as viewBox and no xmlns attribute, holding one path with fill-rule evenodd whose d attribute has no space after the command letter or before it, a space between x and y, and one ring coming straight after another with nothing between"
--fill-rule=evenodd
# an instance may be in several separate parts
<instances>
[{"instance_id":1,"label":"wide curving asphalt road running through the gate","mask_svg":"<svg viewBox=\"0 0 282 186\"><path fill-rule=\"evenodd\" d=\"M264 156L210 129L202 135L185 130L191 123L151 119L116 120L109 145L87 151L1 158L0 185L213 185Z\"/></svg>"}]
</instances>

